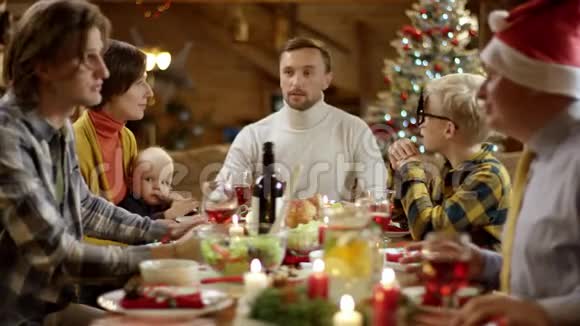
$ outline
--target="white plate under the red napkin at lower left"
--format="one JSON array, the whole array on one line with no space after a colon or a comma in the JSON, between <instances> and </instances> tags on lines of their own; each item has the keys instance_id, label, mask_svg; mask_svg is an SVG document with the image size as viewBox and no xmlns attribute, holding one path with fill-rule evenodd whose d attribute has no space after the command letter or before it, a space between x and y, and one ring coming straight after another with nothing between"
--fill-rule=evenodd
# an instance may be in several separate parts
<instances>
[{"instance_id":1,"label":"white plate under the red napkin at lower left","mask_svg":"<svg viewBox=\"0 0 580 326\"><path fill-rule=\"evenodd\" d=\"M202 300L216 300L216 303L208 304L201 309L185 309L185 308L170 308L170 309L124 309L121 307L121 300L125 297L123 289L107 292L97 299L99 306L107 311L121 313L136 317L164 317L164 318L183 318L183 317L198 317L208 313L220 311L231 306L234 301L225 293L212 290L201 290Z\"/></svg>"}]
</instances>

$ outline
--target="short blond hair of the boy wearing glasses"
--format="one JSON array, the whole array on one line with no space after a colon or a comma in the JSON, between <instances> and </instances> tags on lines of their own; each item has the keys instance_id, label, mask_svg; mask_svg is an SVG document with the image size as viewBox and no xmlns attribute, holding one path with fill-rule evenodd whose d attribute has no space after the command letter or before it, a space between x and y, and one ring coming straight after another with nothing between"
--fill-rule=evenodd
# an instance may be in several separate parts
<instances>
[{"instance_id":1,"label":"short blond hair of the boy wearing glasses","mask_svg":"<svg viewBox=\"0 0 580 326\"><path fill-rule=\"evenodd\" d=\"M484 142L490 133L477 99L484 81L480 75L450 74L430 81L425 87L425 96L437 94L441 113L455 122L469 144Z\"/></svg>"}]
</instances>

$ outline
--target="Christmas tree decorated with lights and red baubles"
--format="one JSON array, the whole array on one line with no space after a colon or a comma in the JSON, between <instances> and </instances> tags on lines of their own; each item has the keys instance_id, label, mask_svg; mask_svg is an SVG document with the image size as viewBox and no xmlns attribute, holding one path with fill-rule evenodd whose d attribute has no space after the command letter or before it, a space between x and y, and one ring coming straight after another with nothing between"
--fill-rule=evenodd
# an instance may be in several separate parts
<instances>
[{"instance_id":1,"label":"Christmas tree decorated with lights and red baubles","mask_svg":"<svg viewBox=\"0 0 580 326\"><path fill-rule=\"evenodd\" d=\"M368 107L369 123L383 154L403 137L420 145L415 110L421 88L430 80L451 73L481 73L477 55L477 18L465 9L466 0L420 0L406 14L391 45L399 57L385 59L385 90ZM475 49L474 49L475 48Z\"/></svg>"}]
</instances>

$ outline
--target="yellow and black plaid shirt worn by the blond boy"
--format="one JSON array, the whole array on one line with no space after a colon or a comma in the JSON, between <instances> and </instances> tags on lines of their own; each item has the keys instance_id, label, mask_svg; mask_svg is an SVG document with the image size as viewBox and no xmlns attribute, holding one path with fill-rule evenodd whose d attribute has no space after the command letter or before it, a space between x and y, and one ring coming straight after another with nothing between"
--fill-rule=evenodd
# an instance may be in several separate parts
<instances>
[{"instance_id":1,"label":"yellow and black plaid shirt worn by the blond boy","mask_svg":"<svg viewBox=\"0 0 580 326\"><path fill-rule=\"evenodd\" d=\"M466 232L484 247L497 247L509 205L510 177L491 155L491 145L429 187L423 163L409 162L397 173L401 203L413 239L433 230ZM430 189L431 188L431 193Z\"/></svg>"}]
</instances>

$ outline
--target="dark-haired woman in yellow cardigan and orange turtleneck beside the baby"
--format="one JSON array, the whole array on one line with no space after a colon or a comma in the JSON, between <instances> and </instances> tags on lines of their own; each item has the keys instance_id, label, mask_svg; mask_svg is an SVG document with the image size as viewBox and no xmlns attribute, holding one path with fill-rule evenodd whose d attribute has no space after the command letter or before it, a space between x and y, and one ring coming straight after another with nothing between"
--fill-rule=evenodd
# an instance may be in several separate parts
<instances>
[{"instance_id":1,"label":"dark-haired woman in yellow cardigan and orange turtleneck beside the baby","mask_svg":"<svg viewBox=\"0 0 580 326\"><path fill-rule=\"evenodd\" d=\"M153 91L146 81L146 56L136 47L111 41L104 55L110 76L101 87L102 101L74 123L81 173L95 193L118 204L128 193L137 142L125 126L141 120Z\"/></svg>"}]
</instances>

